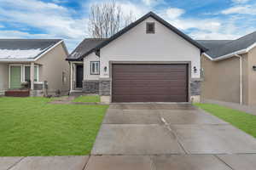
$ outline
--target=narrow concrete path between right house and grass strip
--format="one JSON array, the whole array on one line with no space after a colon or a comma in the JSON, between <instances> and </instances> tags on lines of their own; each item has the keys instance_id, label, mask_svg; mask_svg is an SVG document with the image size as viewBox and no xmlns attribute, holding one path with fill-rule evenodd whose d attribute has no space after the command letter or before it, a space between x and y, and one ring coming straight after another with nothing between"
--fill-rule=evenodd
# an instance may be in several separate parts
<instances>
[{"instance_id":1,"label":"narrow concrete path between right house and grass strip","mask_svg":"<svg viewBox=\"0 0 256 170\"><path fill-rule=\"evenodd\" d=\"M236 103L230 103L230 102L224 102L224 101L218 101L218 100L212 100L212 99L204 99L203 102L209 103L209 104L223 105L226 107L230 107L231 109L244 111L244 112L247 112L248 114L256 116L256 107L252 105L239 105Z\"/></svg>"}]
</instances>

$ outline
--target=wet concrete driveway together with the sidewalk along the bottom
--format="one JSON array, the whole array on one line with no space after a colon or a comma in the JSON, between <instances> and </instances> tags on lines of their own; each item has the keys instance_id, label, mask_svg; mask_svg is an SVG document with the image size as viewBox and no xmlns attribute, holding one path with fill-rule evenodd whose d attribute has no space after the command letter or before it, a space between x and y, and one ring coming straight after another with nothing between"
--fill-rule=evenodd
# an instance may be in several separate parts
<instances>
[{"instance_id":1,"label":"wet concrete driveway together with the sidewalk along the bottom","mask_svg":"<svg viewBox=\"0 0 256 170\"><path fill-rule=\"evenodd\" d=\"M110 105L91 156L1 157L0 170L255 170L256 140L192 105Z\"/></svg>"}]
</instances>

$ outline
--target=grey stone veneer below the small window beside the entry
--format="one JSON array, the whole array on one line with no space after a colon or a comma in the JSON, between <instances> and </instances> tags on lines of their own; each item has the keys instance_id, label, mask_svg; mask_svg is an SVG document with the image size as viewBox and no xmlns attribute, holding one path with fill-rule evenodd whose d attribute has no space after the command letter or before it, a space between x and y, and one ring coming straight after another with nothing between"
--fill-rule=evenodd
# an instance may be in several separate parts
<instances>
[{"instance_id":1,"label":"grey stone veneer below the small window beside the entry","mask_svg":"<svg viewBox=\"0 0 256 170\"><path fill-rule=\"evenodd\" d=\"M99 94L99 81L98 80L84 80L82 91L85 94Z\"/></svg>"}]
</instances>

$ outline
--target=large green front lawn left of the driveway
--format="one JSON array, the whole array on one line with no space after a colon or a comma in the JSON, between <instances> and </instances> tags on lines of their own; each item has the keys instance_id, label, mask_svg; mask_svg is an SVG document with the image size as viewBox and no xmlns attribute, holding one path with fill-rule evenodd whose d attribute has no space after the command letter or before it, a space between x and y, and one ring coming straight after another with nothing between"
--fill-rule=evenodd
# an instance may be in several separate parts
<instances>
[{"instance_id":1,"label":"large green front lawn left of the driveway","mask_svg":"<svg viewBox=\"0 0 256 170\"><path fill-rule=\"evenodd\" d=\"M0 156L87 155L108 105L0 97Z\"/></svg>"}]
</instances>

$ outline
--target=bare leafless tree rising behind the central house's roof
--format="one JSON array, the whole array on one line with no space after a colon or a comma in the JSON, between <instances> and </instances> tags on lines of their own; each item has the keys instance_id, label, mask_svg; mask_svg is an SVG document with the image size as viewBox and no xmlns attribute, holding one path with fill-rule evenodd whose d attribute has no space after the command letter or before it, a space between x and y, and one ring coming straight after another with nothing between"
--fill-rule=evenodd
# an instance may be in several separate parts
<instances>
[{"instance_id":1,"label":"bare leafless tree rising behind the central house's roof","mask_svg":"<svg viewBox=\"0 0 256 170\"><path fill-rule=\"evenodd\" d=\"M90 6L89 33L96 38L111 37L134 20L132 12L123 14L121 6L114 0L110 3L96 3Z\"/></svg>"}]
</instances>

